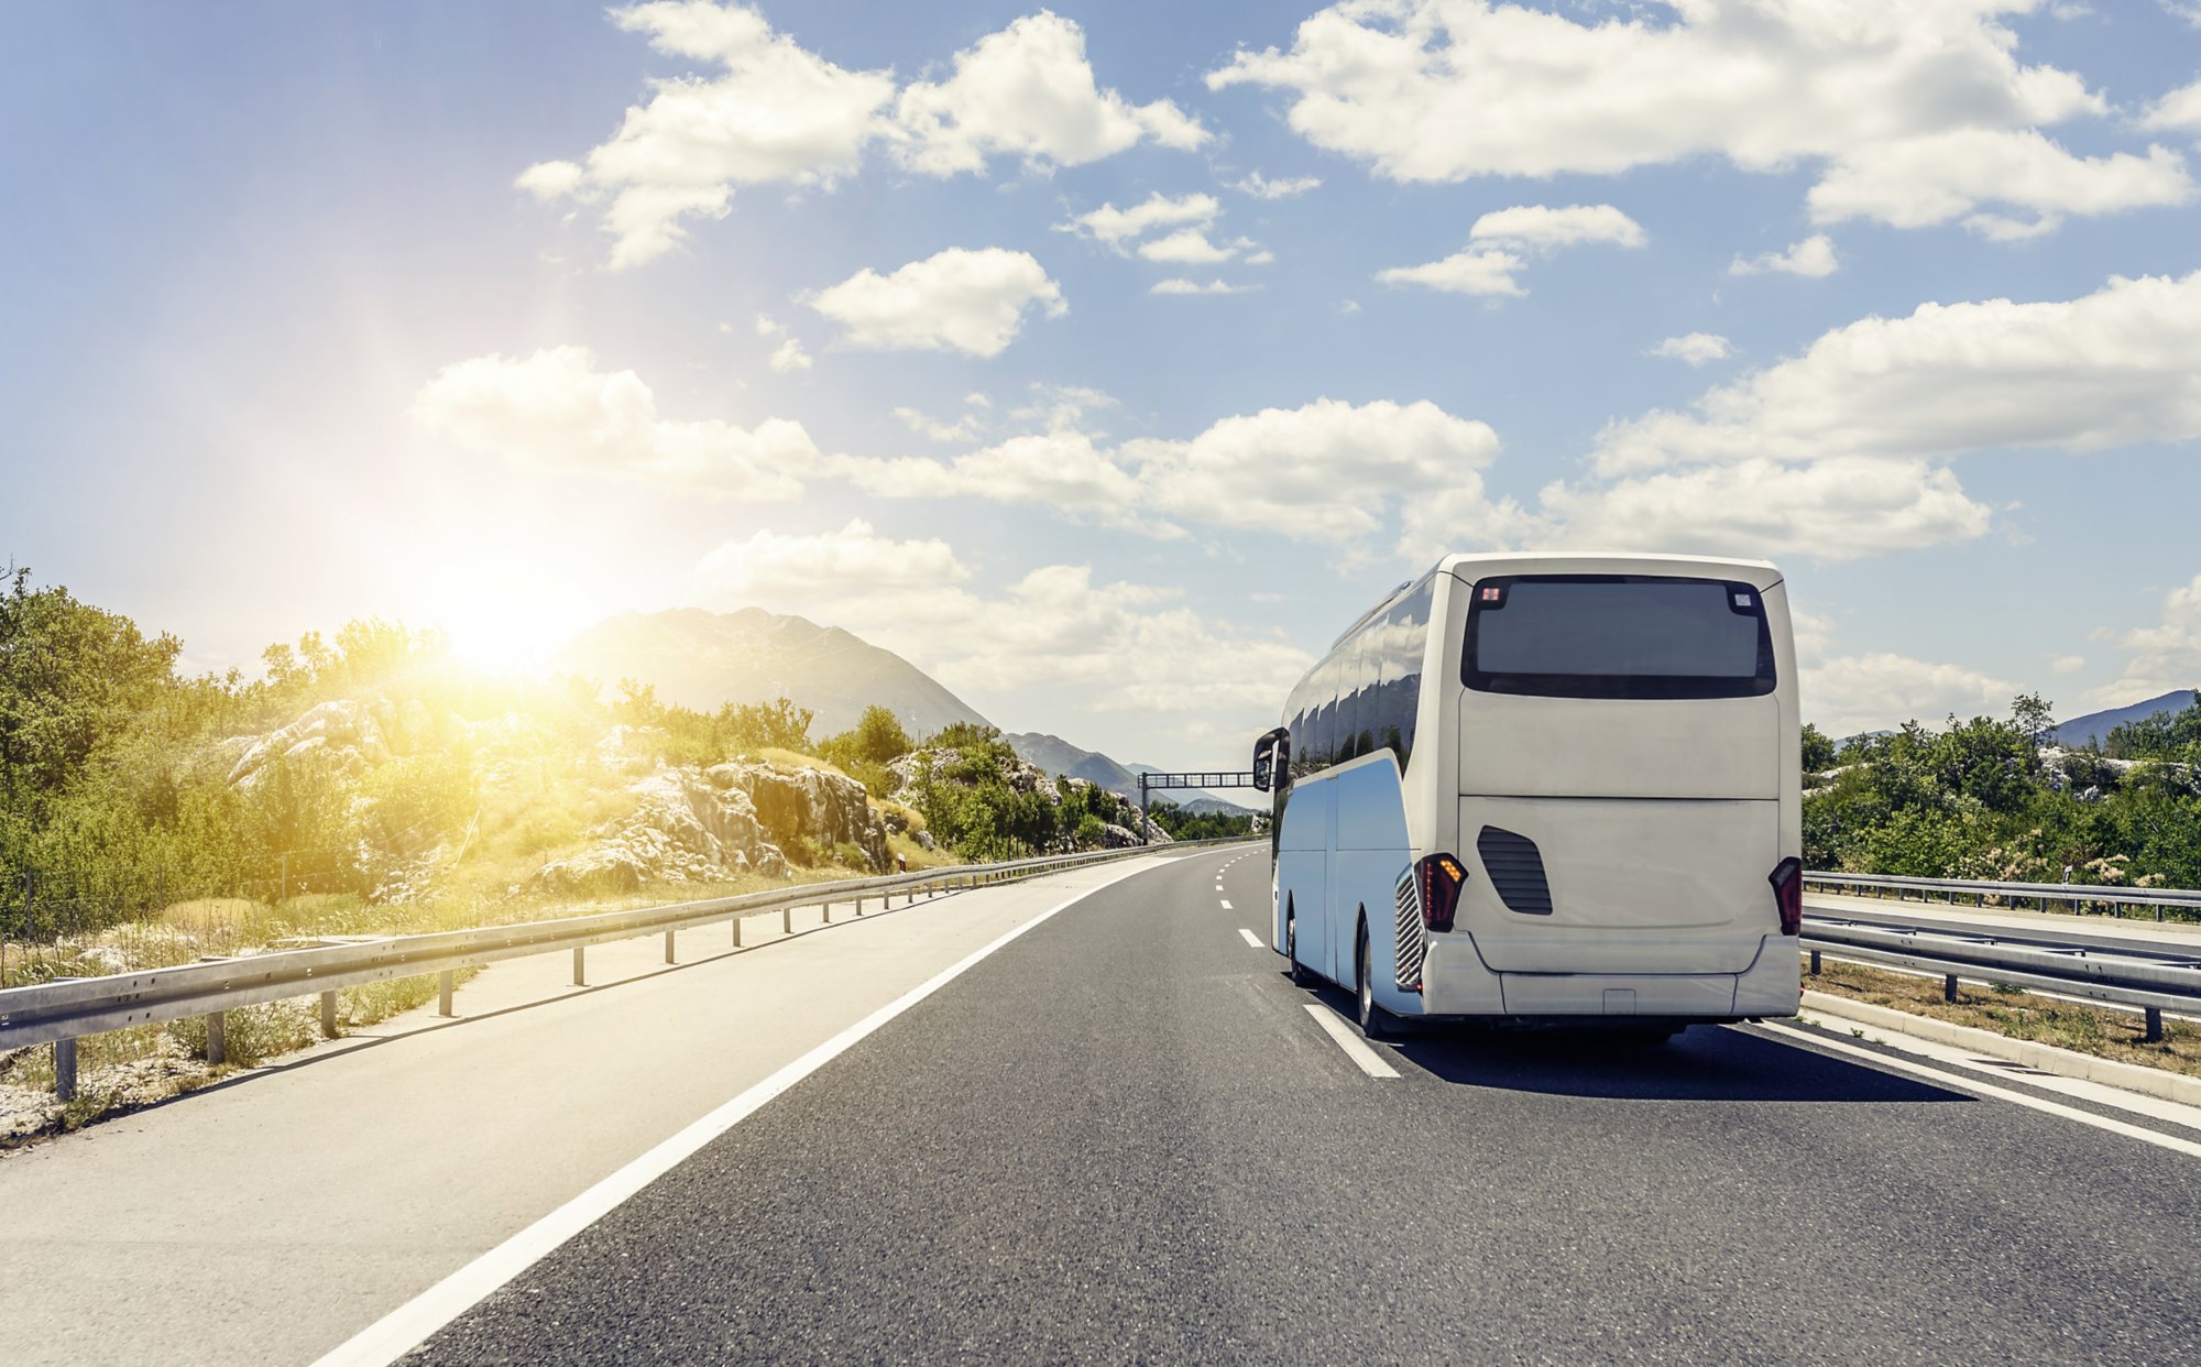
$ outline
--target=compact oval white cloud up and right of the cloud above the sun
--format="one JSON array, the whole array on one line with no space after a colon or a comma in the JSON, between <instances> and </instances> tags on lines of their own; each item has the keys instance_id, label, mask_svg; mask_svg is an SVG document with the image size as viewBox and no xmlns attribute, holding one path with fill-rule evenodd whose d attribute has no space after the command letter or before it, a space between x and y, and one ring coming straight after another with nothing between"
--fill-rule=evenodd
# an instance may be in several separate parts
<instances>
[{"instance_id":1,"label":"compact oval white cloud up and right of the cloud above the sun","mask_svg":"<svg viewBox=\"0 0 2201 1367\"><path fill-rule=\"evenodd\" d=\"M852 346L971 357L999 357L1032 306L1048 317L1070 313L1032 253L1001 247L951 247L891 275L863 269L808 304L847 328Z\"/></svg>"}]
</instances>

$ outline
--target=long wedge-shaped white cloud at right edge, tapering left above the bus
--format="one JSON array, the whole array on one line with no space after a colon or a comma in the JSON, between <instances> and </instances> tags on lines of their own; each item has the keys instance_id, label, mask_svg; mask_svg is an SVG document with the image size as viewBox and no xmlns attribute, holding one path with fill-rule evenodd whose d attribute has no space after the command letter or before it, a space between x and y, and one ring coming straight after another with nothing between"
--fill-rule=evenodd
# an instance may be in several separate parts
<instances>
[{"instance_id":1,"label":"long wedge-shaped white cloud at right edge, tapering left above the bus","mask_svg":"<svg viewBox=\"0 0 2201 1367\"><path fill-rule=\"evenodd\" d=\"M2071 302L1921 304L1825 332L1796 359L1598 438L1607 473L1673 462L1935 460L2201 436L2201 271Z\"/></svg>"}]
</instances>

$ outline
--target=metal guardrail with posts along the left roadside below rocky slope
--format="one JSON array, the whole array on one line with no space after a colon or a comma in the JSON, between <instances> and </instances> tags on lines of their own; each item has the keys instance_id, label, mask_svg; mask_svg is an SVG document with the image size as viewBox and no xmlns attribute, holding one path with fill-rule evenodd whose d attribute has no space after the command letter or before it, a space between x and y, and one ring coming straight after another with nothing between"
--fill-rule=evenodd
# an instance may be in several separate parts
<instances>
[{"instance_id":1,"label":"metal guardrail with posts along the left roadside below rocky slope","mask_svg":"<svg viewBox=\"0 0 2201 1367\"><path fill-rule=\"evenodd\" d=\"M1180 845L1200 847L1222 843L1230 841L1182 841ZM907 905L907 900L916 900L920 894L1010 883L1037 874L1129 859L1134 854L1151 854L1151 850L1131 845L1127 850L1089 854L946 865L913 874L773 887L702 903L634 907L627 911L491 925L469 931L385 936L317 949L286 949L236 960L145 969L141 973L55 980L0 991L0 1050L53 1043L55 1094L68 1101L75 1096L75 1043L101 1030L207 1017L207 1061L222 1063L222 1013L238 1006L319 995L321 1030L324 1035L335 1035L337 991L348 986L438 973L440 1010L442 1015L451 1015L451 988L458 969L572 949L574 986L583 986L590 944L634 940L663 931L665 962L674 962L674 933L702 925L731 922L733 944L740 947L742 920L751 916L779 911L781 929L792 931L797 907L823 907L825 922L830 925L834 903L854 903L856 916L863 916L863 903L869 898L880 898L885 907L891 907L894 898L902 896Z\"/></svg>"}]
</instances>

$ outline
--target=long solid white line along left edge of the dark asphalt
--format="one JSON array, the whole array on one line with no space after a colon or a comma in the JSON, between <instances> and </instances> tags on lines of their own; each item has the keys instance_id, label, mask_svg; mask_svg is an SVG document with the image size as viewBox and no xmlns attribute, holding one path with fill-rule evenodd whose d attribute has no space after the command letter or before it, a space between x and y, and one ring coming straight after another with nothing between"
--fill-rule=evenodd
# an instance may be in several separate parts
<instances>
[{"instance_id":1,"label":"long solid white line along left edge of the dark asphalt","mask_svg":"<svg viewBox=\"0 0 2201 1367\"><path fill-rule=\"evenodd\" d=\"M788 1087L801 1083L806 1076L810 1076L832 1059L841 1057L843 1052L861 1043L867 1035L872 1035L894 1017L902 1015L924 997L931 997L946 984L962 977L964 971L968 971L979 960L1006 947L1017 936L1023 936L1026 931L1039 927L1041 922L1052 920L1056 911L1065 911L1083 903L1092 894L1100 892L1103 887L1120 883L1123 878L1129 878L1131 874L1138 872L1142 870L1136 865L1127 870L1114 870L1114 876L1107 878L1107 883L1096 883L1094 887L1087 887L1085 892L1048 907L1045 911L1026 920L1023 925L997 938L995 942L973 949L955 964L942 969L927 982L909 988L894 1002L887 1002L885 1006L863 1017L847 1030L841 1030L839 1035L817 1046L801 1059L788 1063L786 1068L764 1079L755 1087L742 1092L740 1096L718 1107L709 1116L696 1120L680 1134L660 1142L656 1149L649 1149L627 1167L603 1178L601 1182L596 1182L581 1195L572 1198L557 1211L550 1211L548 1215L544 1215L528 1228L519 1231L511 1239L497 1244L495 1248L473 1259L464 1268L451 1272L449 1277L427 1288L412 1301L398 1305L383 1319L374 1321L372 1325L354 1334L350 1341L330 1349L319 1363L315 1363L315 1367L350 1367L354 1363L387 1367L390 1363L396 1363L416 1345L427 1341L429 1334L442 1330L460 1314L467 1314L484 1299L489 1299L491 1292L495 1292L511 1279L533 1268L537 1261L548 1257L552 1250L557 1250L561 1244L566 1244L588 1226L610 1215L629 1195L669 1173L682 1160L691 1158L698 1149L702 1149L718 1136L726 1134L729 1129L753 1116L757 1109L764 1107L764 1103L773 1101Z\"/></svg>"}]
</instances>

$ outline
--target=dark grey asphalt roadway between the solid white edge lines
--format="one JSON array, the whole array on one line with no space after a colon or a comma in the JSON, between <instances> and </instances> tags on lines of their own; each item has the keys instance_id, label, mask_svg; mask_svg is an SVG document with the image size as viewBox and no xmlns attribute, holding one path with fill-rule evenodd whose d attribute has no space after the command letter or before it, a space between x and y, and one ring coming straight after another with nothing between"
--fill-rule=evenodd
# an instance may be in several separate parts
<instances>
[{"instance_id":1,"label":"dark grey asphalt roadway between the solid white edge lines","mask_svg":"<svg viewBox=\"0 0 2201 1367\"><path fill-rule=\"evenodd\" d=\"M2183 1153L1752 1028L1376 1079L1266 903L1259 850L1089 896L416 1358L2201 1358Z\"/></svg>"}]
</instances>

